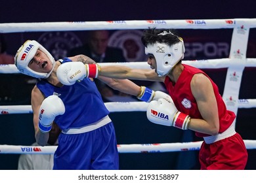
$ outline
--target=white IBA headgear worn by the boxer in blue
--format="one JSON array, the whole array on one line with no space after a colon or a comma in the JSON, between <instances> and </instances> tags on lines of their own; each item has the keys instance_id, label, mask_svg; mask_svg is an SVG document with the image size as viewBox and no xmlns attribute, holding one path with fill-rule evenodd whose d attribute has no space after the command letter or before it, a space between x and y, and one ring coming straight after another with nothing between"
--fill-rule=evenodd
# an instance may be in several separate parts
<instances>
[{"instance_id":1,"label":"white IBA headgear worn by the boxer in blue","mask_svg":"<svg viewBox=\"0 0 256 183\"><path fill-rule=\"evenodd\" d=\"M23 73L24 75L29 75L35 78L48 78L53 72L53 69L51 69L49 73L39 73L28 67L28 63L30 63L30 61L33 59L38 49L47 55L47 57L51 60L54 69L55 60L53 56L41 44L34 40L28 40L24 42L22 46L20 46L14 57L15 65L20 73Z\"/></svg>"}]
</instances>

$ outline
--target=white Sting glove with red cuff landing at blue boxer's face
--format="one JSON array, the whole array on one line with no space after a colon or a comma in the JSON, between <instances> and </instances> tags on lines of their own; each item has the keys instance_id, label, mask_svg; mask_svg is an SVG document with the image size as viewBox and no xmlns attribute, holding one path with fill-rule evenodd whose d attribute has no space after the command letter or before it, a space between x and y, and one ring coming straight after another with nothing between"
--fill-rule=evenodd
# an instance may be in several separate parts
<instances>
[{"instance_id":1,"label":"white Sting glove with red cuff landing at blue boxer's face","mask_svg":"<svg viewBox=\"0 0 256 183\"><path fill-rule=\"evenodd\" d=\"M96 78L100 67L97 64L83 64L81 61L62 63L56 71L58 80L64 85L73 85L83 78Z\"/></svg>"}]
</instances>

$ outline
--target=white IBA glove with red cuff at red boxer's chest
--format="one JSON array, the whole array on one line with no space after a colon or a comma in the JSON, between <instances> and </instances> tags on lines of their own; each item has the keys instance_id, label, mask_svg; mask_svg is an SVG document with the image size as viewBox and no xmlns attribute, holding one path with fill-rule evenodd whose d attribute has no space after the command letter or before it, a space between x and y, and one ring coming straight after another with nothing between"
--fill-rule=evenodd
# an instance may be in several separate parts
<instances>
[{"instance_id":1,"label":"white IBA glove with red cuff at red boxer's chest","mask_svg":"<svg viewBox=\"0 0 256 183\"><path fill-rule=\"evenodd\" d=\"M154 124L174 126L180 129L188 129L190 116L179 112L174 103L165 99L151 101L146 110L146 116Z\"/></svg>"}]
</instances>

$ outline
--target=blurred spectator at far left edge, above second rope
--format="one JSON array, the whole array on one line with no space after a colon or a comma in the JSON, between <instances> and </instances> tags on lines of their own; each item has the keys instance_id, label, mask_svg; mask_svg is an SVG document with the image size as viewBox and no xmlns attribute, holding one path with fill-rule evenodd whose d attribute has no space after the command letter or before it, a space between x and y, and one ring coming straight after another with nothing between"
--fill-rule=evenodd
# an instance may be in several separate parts
<instances>
[{"instance_id":1,"label":"blurred spectator at far left edge, above second rope","mask_svg":"<svg viewBox=\"0 0 256 183\"><path fill-rule=\"evenodd\" d=\"M14 56L7 54L5 37L0 33L0 64L14 64Z\"/></svg>"}]
</instances>

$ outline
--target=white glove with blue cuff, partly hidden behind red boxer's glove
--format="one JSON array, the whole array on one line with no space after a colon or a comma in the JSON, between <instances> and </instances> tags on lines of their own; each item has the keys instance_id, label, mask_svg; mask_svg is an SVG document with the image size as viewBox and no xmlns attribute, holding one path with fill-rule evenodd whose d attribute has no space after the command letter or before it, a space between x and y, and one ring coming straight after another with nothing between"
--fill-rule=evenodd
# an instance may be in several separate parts
<instances>
[{"instance_id":1,"label":"white glove with blue cuff, partly hidden behind red boxer's glove","mask_svg":"<svg viewBox=\"0 0 256 183\"><path fill-rule=\"evenodd\" d=\"M140 86L140 93L137 96L138 99L149 103L150 101L158 101L158 99L165 99L173 103L173 99L167 93L161 91L154 91L145 86Z\"/></svg>"}]
</instances>

